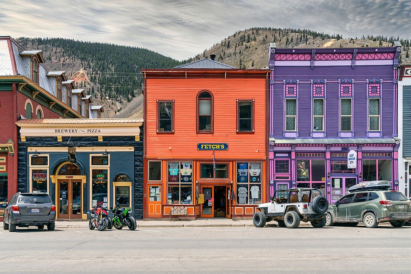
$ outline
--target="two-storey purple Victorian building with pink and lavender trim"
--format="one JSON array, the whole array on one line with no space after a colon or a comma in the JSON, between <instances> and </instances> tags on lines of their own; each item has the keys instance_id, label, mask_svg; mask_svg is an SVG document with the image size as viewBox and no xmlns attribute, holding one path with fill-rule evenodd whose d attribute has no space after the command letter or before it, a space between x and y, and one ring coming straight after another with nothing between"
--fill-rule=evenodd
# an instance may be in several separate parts
<instances>
[{"instance_id":1,"label":"two-storey purple Victorian building with pink and lavender trim","mask_svg":"<svg viewBox=\"0 0 411 274\"><path fill-rule=\"evenodd\" d=\"M398 189L400 53L398 42L316 49L270 43L270 196L315 187L334 202L372 180Z\"/></svg>"}]
</instances>

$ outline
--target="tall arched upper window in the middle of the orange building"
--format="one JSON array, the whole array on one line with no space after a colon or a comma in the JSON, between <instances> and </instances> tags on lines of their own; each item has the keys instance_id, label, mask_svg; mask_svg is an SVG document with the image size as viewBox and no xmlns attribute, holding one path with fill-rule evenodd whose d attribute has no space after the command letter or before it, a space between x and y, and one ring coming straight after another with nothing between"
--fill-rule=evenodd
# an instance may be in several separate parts
<instances>
[{"instance_id":1,"label":"tall arched upper window in the middle of the orange building","mask_svg":"<svg viewBox=\"0 0 411 274\"><path fill-rule=\"evenodd\" d=\"M202 91L197 96L197 131L212 132L212 94Z\"/></svg>"}]
</instances>

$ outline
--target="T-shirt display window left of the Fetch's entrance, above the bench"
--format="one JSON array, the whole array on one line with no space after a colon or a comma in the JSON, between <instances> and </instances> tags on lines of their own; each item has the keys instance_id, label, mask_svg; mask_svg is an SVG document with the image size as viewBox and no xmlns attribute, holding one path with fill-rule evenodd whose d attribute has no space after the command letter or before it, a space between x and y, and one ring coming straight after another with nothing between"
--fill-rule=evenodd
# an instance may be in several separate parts
<instances>
[{"instance_id":1,"label":"T-shirt display window left of the Fetch's entrance, above the bench","mask_svg":"<svg viewBox=\"0 0 411 274\"><path fill-rule=\"evenodd\" d=\"M167 204L192 204L193 162L167 162Z\"/></svg>"}]
</instances>

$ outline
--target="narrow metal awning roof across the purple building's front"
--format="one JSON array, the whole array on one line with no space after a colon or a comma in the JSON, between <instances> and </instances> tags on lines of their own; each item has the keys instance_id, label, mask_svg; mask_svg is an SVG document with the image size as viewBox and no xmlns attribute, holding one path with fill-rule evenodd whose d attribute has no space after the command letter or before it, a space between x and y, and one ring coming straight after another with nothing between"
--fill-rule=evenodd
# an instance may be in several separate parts
<instances>
[{"instance_id":1,"label":"narrow metal awning roof across the purple building's front","mask_svg":"<svg viewBox=\"0 0 411 274\"><path fill-rule=\"evenodd\" d=\"M276 139L270 137L275 144L395 144L399 139L393 138L358 138L358 139Z\"/></svg>"}]
</instances>

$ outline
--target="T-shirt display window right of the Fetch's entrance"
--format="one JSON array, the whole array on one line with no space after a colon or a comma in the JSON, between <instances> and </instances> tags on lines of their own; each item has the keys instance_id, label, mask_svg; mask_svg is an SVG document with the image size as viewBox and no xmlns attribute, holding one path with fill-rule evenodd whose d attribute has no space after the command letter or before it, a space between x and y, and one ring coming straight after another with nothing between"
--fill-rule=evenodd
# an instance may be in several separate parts
<instances>
[{"instance_id":1,"label":"T-shirt display window right of the Fetch's entrance","mask_svg":"<svg viewBox=\"0 0 411 274\"><path fill-rule=\"evenodd\" d=\"M237 163L237 203L261 204L261 162Z\"/></svg>"}]
</instances>

